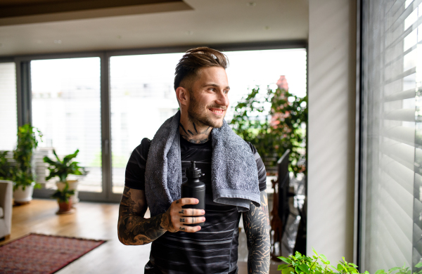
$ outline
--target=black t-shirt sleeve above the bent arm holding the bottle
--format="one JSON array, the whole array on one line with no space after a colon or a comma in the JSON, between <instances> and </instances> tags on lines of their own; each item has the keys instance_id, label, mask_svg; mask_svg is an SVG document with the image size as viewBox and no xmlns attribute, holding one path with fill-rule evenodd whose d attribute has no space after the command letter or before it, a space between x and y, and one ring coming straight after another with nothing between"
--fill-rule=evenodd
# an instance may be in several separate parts
<instances>
[{"instance_id":1,"label":"black t-shirt sleeve above the bent arm holding the bottle","mask_svg":"<svg viewBox=\"0 0 422 274\"><path fill-rule=\"evenodd\" d=\"M124 174L124 186L137 190L145 190L145 168L151 140L143 138L129 157Z\"/></svg>"}]
</instances>

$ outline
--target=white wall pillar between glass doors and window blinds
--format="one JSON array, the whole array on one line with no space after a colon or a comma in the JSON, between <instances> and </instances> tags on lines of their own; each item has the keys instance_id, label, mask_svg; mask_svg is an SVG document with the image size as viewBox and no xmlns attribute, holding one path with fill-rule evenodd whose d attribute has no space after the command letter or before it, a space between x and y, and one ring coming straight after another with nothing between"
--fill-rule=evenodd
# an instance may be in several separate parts
<instances>
[{"instance_id":1,"label":"white wall pillar between glass doors and window blinds","mask_svg":"<svg viewBox=\"0 0 422 274\"><path fill-rule=\"evenodd\" d=\"M309 0L307 254L353 261L356 1Z\"/></svg>"}]
</instances>

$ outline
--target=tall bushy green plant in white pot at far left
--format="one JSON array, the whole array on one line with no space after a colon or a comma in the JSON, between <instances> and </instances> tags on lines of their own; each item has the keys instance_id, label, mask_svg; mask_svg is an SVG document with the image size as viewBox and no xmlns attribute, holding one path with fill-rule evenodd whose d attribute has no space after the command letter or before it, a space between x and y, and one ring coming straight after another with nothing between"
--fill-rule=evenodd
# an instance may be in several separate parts
<instances>
[{"instance_id":1,"label":"tall bushy green plant in white pot at far left","mask_svg":"<svg viewBox=\"0 0 422 274\"><path fill-rule=\"evenodd\" d=\"M37 133L37 135L36 135ZM37 137L38 136L38 137ZM13 198L16 204L26 204L32 200L34 187L36 184L34 173L32 172L32 152L38 146L38 139L41 141L42 134L30 124L18 127L18 144L13 150L15 169L11 169L13 178Z\"/></svg>"}]
</instances>

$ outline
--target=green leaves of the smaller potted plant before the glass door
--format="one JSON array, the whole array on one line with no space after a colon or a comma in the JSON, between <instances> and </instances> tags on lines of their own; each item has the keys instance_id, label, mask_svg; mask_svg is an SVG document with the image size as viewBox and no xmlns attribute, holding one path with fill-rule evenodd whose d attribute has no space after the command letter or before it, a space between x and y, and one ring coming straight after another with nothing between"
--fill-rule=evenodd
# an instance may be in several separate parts
<instances>
[{"instance_id":1,"label":"green leaves of the smaller potted plant before the glass door","mask_svg":"<svg viewBox=\"0 0 422 274\"><path fill-rule=\"evenodd\" d=\"M56 156L56 160L50 159L49 157L44 157L44 162L49 164L49 176L46 177L46 181L53 178L58 177L59 181L56 182L57 189L62 191L65 189L65 186L68 185L69 190L74 190L72 194L71 200L72 204L76 204L79 202L77 197L77 180L68 180L68 176L70 174L73 175L86 175L87 171L85 171L84 167L79 167L79 162L72 161L73 158L77 157L79 150L76 150L74 153L70 155L66 155L63 157L63 160L60 160L58 155L56 154L56 150L53 150L54 156Z\"/></svg>"}]
</instances>

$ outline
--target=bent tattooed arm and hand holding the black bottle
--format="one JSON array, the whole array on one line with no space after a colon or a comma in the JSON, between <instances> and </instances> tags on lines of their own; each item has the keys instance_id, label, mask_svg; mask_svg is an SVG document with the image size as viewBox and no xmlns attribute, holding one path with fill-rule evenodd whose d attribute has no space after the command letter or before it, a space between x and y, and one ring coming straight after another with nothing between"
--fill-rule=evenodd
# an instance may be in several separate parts
<instances>
[{"instance_id":1,"label":"bent tattooed arm and hand holding the black bottle","mask_svg":"<svg viewBox=\"0 0 422 274\"><path fill-rule=\"evenodd\" d=\"M158 239L166 231L196 232L200 226L185 226L186 223L201 223L203 218L186 217L203 215L200 209L182 209L185 204L197 204L198 200L183 198L172 202L163 214L152 218L144 218L148 205L145 192L124 187L119 208L117 235L120 242L126 245L148 244ZM204 218L205 219L205 218Z\"/></svg>"}]
</instances>

